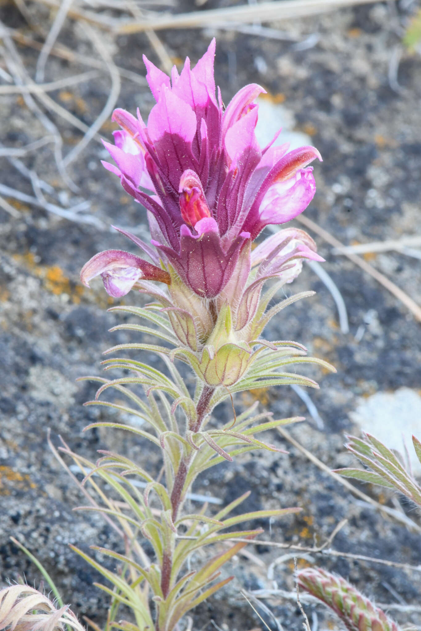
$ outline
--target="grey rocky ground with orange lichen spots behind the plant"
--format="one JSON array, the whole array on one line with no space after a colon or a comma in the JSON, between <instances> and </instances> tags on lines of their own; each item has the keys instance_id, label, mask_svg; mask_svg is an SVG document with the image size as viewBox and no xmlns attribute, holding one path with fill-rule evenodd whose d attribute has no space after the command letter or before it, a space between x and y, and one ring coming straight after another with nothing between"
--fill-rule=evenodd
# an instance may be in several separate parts
<instances>
[{"instance_id":1,"label":"grey rocky ground with orange lichen spots behind the plant","mask_svg":"<svg viewBox=\"0 0 421 631\"><path fill-rule=\"evenodd\" d=\"M216 35L215 74L225 103L249 82L261 83L272 103L283 103L293 117L295 131L311 136L312 144L323 155L324 162L315 165L318 188L306 215L345 244L421 234L419 55L402 50L398 86L388 75L391 57L396 59L400 54L402 25L414 10L413 4L400 4L360 6L270 25L287 30L304 45L234 32L160 33L176 60L187 54L196 60ZM215 6L222 3L209 1L205 8ZM186 2L183 8L192 9L193 3ZM30 13L39 25L49 23L47 9L34 4ZM6 25L37 39L35 30L28 28L13 4L2 4L0 14ZM307 39L312 34L312 40ZM81 25L74 21L66 21L59 41L82 56L97 56ZM144 72L143 52L158 62L145 35L119 37L114 43L104 35L104 42L112 46L114 62L134 73ZM33 76L35 50L19 45L18 52ZM45 81L85 70L82 64L50 56ZM49 95L90 125L104 107L109 90L109 78L100 73ZM145 86L122 78L119 107L134 110L139 106L147 115L152 104ZM44 127L20 95L3 95L0 112L6 122L0 131L3 145L20 147L45 135ZM59 128L66 153L81 139L81 132L58 115L49 116ZM105 124L102 136L108 138L112 129ZM83 427L95 420L117 418L102 408L83 408L81 404L92 398L95 387L88 382L75 383L80 375L99 373L105 348L132 339L122 332L107 332L121 320L105 312L112 300L100 283L93 283L89 291L78 282L81 265L95 252L127 247L123 237L107 225L116 223L139 232L145 228L143 210L124 194L118 180L102 169L99 160L104 157L104 149L93 140L69 166L77 192L69 190L60 179L51 144L28 153L21 162L52 187L44 191L48 201L66 208L66 204L88 200L92 206L83 213L101 222L105 229L59 218L6 194L4 198L16 216L0 208L1 581L16 581L19 575L25 575L30 584L39 584L36 569L9 541L13 535L44 563L74 611L98 624L104 621L107 599L92 585L98 576L67 544L76 543L84 550L98 541L110 547L120 544L100 517L72 512L83 500L49 451L46 433L50 428L54 444L59 444L57 436L61 435L74 451L95 460L97 449L110 447L110 434L106 430L82 433ZM0 160L1 182L33 196L30 179L19 172L16 163L5 157ZM296 339L338 370L337 374L323 374L319 369L307 373L321 386L310 394L324 428L317 429L309 418L309 422L290 430L329 468L338 468L352 463L343 448L343 433L359 432L350 415L362 399L402 386L413 392L420 389L420 323L376 280L345 257L333 254L317 235L315 238L319 252L326 258L324 269L347 305L350 332L341 333L333 298L307 267L294 291L313 289L316 297L283 311L268 330L268 338ZM398 252L366 255L365 259L420 304L419 259ZM136 296L127 300L141 302ZM237 409L256 398L275 415L309 417L304 403L289 388L247 393L236 402ZM229 413L228 408L222 408L220 416ZM396 418L396 422L405 433L405 418ZM419 427L421 437L421 421ZM309 546L314 538L323 541L341 519L347 518L346 526L335 538L336 550L412 565L421 563L419 532L408 531L371 505L356 500L280 435L274 433L271 440L287 448L289 455L264 452L240 457L199 480L194 490L228 502L251 488L246 510L302 507L299 515L271 525L262 522L272 541ZM112 449L137 459L141 466L159 469L158 454L140 439L127 444L126 436L116 433ZM364 491L381 504L399 507L421 526L412 507L392 493L370 485ZM261 627L240 589L271 589L268 567L283 551L264 545L250 546L249 551L251 558L239 557L229 569L235 581L194 611L194 630L212 628L210 620L224 631ZM328 556L305 557L299 559L299 564L315 561L349 578L379 603L420 603L419 572ZM278 589L294 589L293 569L291 558L275 566L273 580ZM269 628L277 628L273 616L290 631L302 628L294 599L285 599L279 593L262 602L266 609L260 608L259 613ZM306 609L313 623L318 620L319 628L339 628L336 618L321 606L309 605ZM402 625L421 627L419 609L391 613Z\"/></svg>"}]
</instances>

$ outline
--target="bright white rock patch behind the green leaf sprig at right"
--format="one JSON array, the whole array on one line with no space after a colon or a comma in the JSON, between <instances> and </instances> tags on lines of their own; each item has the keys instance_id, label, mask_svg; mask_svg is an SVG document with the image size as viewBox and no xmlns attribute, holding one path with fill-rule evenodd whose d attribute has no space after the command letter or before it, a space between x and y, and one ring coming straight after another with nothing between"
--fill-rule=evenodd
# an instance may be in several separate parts
<instances>
[{"instance_id":1,"label":"bright white rock patch behind the green leaf sprig at right","mask_svg":"<svg viewBox=\"0 0 421 631\"><path fill-rule=\"evenodd\" d=\"M395 392L376 392L362 399L350 417L389 449L404 454L406 444L412 471L421 475L421 463L412 445L412 435L421 440L421 396L415 390L403 387Z\"/></svg>"}]
</instances>

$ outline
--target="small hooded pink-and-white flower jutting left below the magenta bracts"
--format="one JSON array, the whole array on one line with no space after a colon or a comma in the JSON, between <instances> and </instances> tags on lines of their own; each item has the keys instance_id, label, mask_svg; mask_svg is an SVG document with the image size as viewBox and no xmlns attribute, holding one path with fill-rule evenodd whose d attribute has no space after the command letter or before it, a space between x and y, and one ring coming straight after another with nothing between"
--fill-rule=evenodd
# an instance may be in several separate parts
<instances>
[{"instance_id":1,"label":"small hooded pink-and-white flower jutting left below the magenta bracts","mask_svg":"<svg viewBox=\"0 0 421 631\"><path fill-rule=\"evenodd\" d=\"M86 262L81 269L81 282L89 287L95 276L102 276L105 291L114 298L125 296L138 280L156 280L167 285L171 282L169 273L123 250L98 252Z\"/></svg>"}]
</instances>

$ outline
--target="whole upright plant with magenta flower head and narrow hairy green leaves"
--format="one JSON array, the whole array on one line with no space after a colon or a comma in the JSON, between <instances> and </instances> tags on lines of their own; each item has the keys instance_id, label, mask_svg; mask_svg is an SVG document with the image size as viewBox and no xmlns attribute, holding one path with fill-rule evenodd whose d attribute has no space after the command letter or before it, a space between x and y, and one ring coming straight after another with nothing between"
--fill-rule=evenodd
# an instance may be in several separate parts
<instances>
[{"instance_id":1,"label":"whole upright plant with magenta flower head and narrow hairy green leaves","mask_svg":"<svg viewBox=\"0 0 421 631\"><path fill-rule=\"evenodd\" d=\"M100 511L124 542L124 553L95 548L100 557L120 563L118 572L75 548L113 586L99 586L111 597L105 631L176 628L187 611L230 581L232 577L215 582L223 563L246 545L244 538L252 540L261 532L224 532L227 528L299 510L227 517L248 493L213 516L206 514L206 507L199 514L183 509L200 473L254 449L280 451L255 435L300 420L273 420L268 413L256 415L252 406L221 425L211 416L219 403L235 392L258 387L317 387L309 377L288 372L292 364L313 362L332 369L323 360L306 357L299 343L261 337L274 315L312 295L303 292L271 305L276 292L300 273L303 259L323 261L316 244L302 230L286 228L252 250L266 225L285 223L304 211L315 191L308 165L321 158L313 147L288 152L287 145L271 143L262 150L255 134L254 100L264 90L248 85L224 110L220 91L215 95L214 54L215 40L193 69L189 59L181 74L174 68L171 80L145 58L146 78L157 100L148 123L139 112L134 117L117 109L113 120L121 131L114 132L114 145L104 143L116 163L105 162L105 168L118 175L125 191L146 208L151 243L117 230L150 261L119 250L100 252L83 266L81 281L89 286L100 275L112 297L132 289L151 296L152 302L143 307L111 309L151 326L129 322L112 330L153 335L159 343L139 340L114 346L106 354L156 353L165 367L162 372L142 356L113 357L103 362L105 370L129 370L132 376L86 377L100 383L95 401L86 404L108 405L147 424L146 429L110 422L89 427L115 427L150 440L162 452L160 478L112 451L102 452L94 464L62 447L85 474L83 487L91 504L85 508ZM177 362L193 372L194 387L188 387ZM100 400L110 387L130 404ZM111 497L102 483L115 495ZM142 538L151 543L152 560L141 546ZM235 538L242 541L223 547L223 541ZM194 557L210 544L218 546L215 556L205 562ZM192 556L194 570L188 562ZM134 622L116 622L122 605L132 610Z\"/></svg>"}]
</instances>

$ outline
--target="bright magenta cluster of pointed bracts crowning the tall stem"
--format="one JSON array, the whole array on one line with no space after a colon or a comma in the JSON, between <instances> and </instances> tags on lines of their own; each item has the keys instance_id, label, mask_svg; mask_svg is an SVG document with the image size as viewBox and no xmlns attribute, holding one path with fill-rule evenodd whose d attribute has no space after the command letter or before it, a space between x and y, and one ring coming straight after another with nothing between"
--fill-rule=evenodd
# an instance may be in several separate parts
<instances>
[{"instance_id":1,"label":"bright magenta cluster of pointed bracts crowning the tall stem","mask_svg":"<svg viewBox=\"0 0 421 631\"><path fill-rule=\"evenodd\" d=\"M169 78L144 57L156 105L147 125L138 111L114 111L122 131L104 143L124 189L149 211L152 244L195 293L222 292L249 240L268 224L304 211L314 196L314 147L259 147L255 128L263 88L247 85L224 111L215 96L215 40L191 69ZM148 193L144 192L147 189ZM242 257L244 259L244 257ZM239 271L240 273L240 271Z\"/></svg>"}]
</instances>

